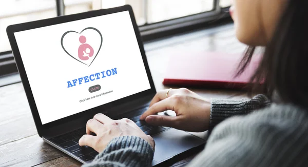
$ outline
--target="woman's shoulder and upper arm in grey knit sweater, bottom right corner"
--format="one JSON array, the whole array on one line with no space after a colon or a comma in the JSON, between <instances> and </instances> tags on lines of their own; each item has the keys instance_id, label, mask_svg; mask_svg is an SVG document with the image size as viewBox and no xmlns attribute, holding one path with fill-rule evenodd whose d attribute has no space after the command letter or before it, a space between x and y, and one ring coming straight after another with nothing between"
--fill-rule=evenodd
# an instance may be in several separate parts
<instances>
[{"instance_id":1,"label":"woman's shoulder and upper arm in grey knit sweater, bottom right corner","mask_svg":"<svg viewBox=\"0 0 308 167\"><path fill-rule=\"evenodd\" d=\"M223 147L225 159L237 166L247 166L244 162L257 166L308 164L307 115L297 106L274 104L246 116L235 116L214 128L206 148L213 151Z\"/></svg>"}]
</instances>

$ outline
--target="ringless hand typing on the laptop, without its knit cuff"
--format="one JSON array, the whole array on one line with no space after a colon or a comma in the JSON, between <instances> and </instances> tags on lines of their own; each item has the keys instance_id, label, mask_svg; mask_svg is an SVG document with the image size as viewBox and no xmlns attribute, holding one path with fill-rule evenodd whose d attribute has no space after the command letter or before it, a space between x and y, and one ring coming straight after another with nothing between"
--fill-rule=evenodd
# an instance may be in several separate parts
<instances>
[{"instance_id":1,"label":"ringless hand typing on the laptop, without its knit cuff","mask_svg":"<svg viewBox=\"0 0 308 167\"><path fill-rule=\"evenodd\" d=\"M93 119L88 120L86 135L79 140L79 145L88 145L97 152L102 152L111 139L120 136L137 136L146 140L151 147L155 148L153 138L146 135L133 121L123 118L112 120L104 114L96 114ZM96 136L90 135L95 133Z\"/></svg>"}]
</instances>

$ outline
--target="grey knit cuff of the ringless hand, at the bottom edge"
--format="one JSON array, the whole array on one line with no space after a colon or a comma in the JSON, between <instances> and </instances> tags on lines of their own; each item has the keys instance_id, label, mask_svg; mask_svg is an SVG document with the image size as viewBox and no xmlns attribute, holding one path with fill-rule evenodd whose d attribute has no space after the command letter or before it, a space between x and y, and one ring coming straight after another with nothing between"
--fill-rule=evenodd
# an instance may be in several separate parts
<instances>
[{"instance_id":1,"label":"grey knit cuff of the ringless hand, at the bottom edge","mask_svg":"<svg viewBox=\"0 0 308 167\"><path fill-rule=\"evenodd\" d=\"M136 136L121 136L112 139L106 149L84 167L151 166L153 155L151 145L144 139Z\"/></svg>"}]
</instances>

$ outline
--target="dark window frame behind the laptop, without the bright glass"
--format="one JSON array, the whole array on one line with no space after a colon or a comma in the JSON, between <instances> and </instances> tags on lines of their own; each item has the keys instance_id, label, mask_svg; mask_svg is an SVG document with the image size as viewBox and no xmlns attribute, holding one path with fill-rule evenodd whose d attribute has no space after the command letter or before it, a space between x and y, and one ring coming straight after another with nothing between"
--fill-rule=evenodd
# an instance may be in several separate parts
<instances>
[{"instance_id":1,"label":"dark window frame behind the laptop, without the bright glass","mask_svg":"<svg viewBox=\"0 0 308 167\"><path fill-rule=\"evenodd\" d=\"M64 0L55 1L57 16L64 15ZM147 0L144 1L146 2ZM229 7L221 8L219 0L214 0L213 3L214 6L211 11L139 26L142 40L145 42L199 28L216 26L225 22L232 22L230 15L227 13ZM17 73L18 70L12 51L0 52L0 77Z\"/></svg>"}]
</instances>

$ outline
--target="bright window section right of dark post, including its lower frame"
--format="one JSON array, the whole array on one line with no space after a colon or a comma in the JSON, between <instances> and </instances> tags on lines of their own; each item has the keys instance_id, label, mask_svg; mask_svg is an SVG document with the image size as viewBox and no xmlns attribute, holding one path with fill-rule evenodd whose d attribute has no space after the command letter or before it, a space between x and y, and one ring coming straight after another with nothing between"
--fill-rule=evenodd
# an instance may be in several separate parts
<instances>
[{"instance_id":1,"label":"bright window section right of dark post, including its lower frame","mask_svg":"<svg viewBox=\"0 0 308 167\"><path fill-rule=\"evenodd\" d=\"M62 0L61 0L62 1ZM65 14L132 6L143 40L172 35L178 28L224 18L230 0L63 0ZM224 14L221 16L220 14ZM171 33L171 34L170 34Z\"/></svg>"}]
</instances>

